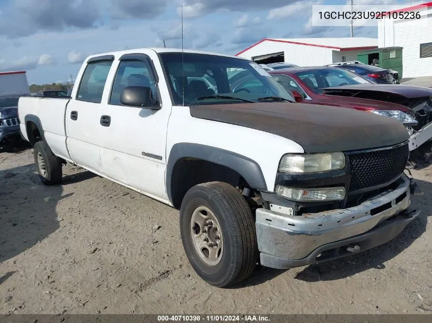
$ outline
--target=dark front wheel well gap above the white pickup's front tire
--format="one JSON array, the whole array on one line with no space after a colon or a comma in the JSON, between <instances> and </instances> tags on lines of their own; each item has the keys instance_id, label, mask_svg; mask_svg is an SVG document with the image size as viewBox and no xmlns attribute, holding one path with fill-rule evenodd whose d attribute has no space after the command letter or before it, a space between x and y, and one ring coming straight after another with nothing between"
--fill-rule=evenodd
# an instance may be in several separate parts
<instances>
[{"instance_id":1,"label":"dark front wheel well gap above the white pickup's front tire","mask_svg":"<svg viewBox=\"0 0 432 323\"><path fill-rule=\"evenodd\" d=\"M176 209L186 192L193 186L208 182L225 182L239 189L250 188L244 178L235 170L206 160L182 158L173 168L171 179L172 204Z\"/></svg>"}]
</instances>

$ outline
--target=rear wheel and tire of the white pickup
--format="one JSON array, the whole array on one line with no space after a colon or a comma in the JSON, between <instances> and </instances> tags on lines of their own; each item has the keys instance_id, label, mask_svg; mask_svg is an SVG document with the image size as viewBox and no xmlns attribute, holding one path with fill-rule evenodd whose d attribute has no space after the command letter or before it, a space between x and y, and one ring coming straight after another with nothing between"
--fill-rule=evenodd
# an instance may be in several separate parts
<instances>
[{"instance_id":1,"label":"rear wheel and tire of the white pickup","mask_svg":"<svg viewBox=\"0 0 432 323\"><path fill-rule=\"evenodd\" d=\"M45 141L38 141L34 145L34 161L39 178L45 185L61 183L62 161L55 156Z\"/></svg>"}]
</instances>

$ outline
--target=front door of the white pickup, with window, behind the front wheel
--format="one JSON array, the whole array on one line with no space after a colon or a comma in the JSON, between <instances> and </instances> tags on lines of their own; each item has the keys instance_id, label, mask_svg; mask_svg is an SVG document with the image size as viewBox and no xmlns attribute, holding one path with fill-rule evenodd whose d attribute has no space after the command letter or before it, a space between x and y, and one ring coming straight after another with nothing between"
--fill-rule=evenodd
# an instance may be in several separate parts
<instances>
[{"instance_id":1,"label":"front door of the white pickup, with window, behind the front wheel","mask_svg":"<svg viewBox=\"0 0 432 323\"><path fill-rule=\"evenodd\" d=\"M152 60L153 59L153 60ZM153 64L153 61L156 64ZM103 175L126 186L167 201L165 190L166 136L171 100L162 67L154 51L120 57L107 102L101 105L101 160ZM157 66L159 70L156 70ZM112 77L111 77L112 76ZM122 90L128 86L150 87L160 110L124 106Z\"/></svg>"}]
</instances>

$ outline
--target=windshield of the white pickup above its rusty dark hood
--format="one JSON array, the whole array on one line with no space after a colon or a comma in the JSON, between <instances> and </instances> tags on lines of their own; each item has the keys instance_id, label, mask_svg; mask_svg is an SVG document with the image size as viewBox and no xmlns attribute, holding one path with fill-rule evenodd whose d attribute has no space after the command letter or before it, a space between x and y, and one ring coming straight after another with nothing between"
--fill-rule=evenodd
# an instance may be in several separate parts
<instances>
[{"instance_id":1,"label":"windshield of the white pickup above its rusty dark hood","mask_svg":"<svg viewBox=\"0 0 432 323\"><path fill-rule=\"evenodd\" d=\"M160 55L176 105L183 104L183 95L185 105L294 101L254 62L195 53L185 53L182 62L181 53Z\"/></svg>"}]
</instances>

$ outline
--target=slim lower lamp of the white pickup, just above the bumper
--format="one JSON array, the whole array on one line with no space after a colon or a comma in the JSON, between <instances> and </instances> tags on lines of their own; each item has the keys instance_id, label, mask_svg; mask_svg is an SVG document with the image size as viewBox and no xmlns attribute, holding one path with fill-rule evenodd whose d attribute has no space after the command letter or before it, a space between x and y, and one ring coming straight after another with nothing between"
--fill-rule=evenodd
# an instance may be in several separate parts
<instances>
[{"instance_id":1,"label":"slim lower lamp of the white pickup, just above the bumper","mask_svg":"<svg viewBox=\"0 0 432 323\"><path fill-rule=\"evenodd\" d=\"M341 201L345 198L345 188L292 188L285 186L276 186L276 193L288 200L294 201Z\"/></svg>"}]
</instances>

